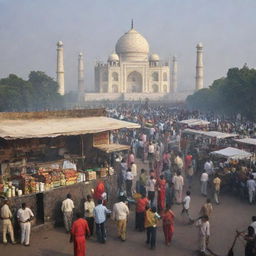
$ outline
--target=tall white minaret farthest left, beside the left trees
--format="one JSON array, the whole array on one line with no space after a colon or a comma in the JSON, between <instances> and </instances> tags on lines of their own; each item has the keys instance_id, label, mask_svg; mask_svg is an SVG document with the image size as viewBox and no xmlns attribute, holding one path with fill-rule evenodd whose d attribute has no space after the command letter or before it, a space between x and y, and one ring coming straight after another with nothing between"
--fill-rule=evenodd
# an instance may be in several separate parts
<instances>
[{"instance_id":1,"label":"tall white minaret farthest left, beside the left trees","mask_svg":"<svg viewBox=\"0 0 256 256\"><path fill-rule=\"evenodd\" d=\"M64 52L63 43L59 41L57 43L57 83L59 85L59 94L65 94L65 84L64 84Z\"/></svg>"}]
</instances>

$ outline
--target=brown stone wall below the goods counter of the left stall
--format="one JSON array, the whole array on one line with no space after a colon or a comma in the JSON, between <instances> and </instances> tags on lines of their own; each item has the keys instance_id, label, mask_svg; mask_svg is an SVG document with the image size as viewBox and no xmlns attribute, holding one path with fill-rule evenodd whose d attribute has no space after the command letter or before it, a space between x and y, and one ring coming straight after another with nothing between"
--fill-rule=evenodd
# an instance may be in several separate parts
<instances>
[{"instance_id":1,"label":"brown stone wall below the goods counter of the left stall","mask_svg":"<svg viewBox=\"0 0 256 256\"><path fill-rule=\"evenodd\" d=\"M44 224L52 223L56 226L62 225L63 217L61 212L62 201L66 198L67 194L72 195L72 199L75 204L75 212L80 211L84 213L84 200L88 194L91 194L91 189L95 189L98 181L103 181L105 184L106 192L108 194L108 207L112 207L113 203L117 200L117 182L116 175L108 176L106 178L98 178L97 180L89 182L80 182L70 186L62 186L53 190L39 193L43 196L43 215ZM12 212L16 215L17 210L21 207L24 202L35 214L32 225L42 224L37 217L40 213L38 209L38 195L23 195L21 197L13 197L9 199L9 205ZM16 218L15 218L16 219Z\"/></svg>"}]
</instances>

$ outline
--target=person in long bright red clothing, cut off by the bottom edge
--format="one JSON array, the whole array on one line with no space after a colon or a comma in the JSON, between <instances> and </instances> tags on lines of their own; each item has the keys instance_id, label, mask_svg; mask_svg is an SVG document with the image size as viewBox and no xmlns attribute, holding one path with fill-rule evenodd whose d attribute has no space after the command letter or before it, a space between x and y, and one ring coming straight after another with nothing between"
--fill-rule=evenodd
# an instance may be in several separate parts
<instances>
[{"instance_id":1,"label":"person in long bright red clothing, cut off by the bottom edge","mask_svg":"<svg viewBox=\"0 0 256 256\"><path fill-rule=\"evenodd\" d=\"M77 220L73 222L71 228L70 242L74 242L74 256L85 256L86 237L90 235L88 223L82 218L80 213L76 214Z\"/></svg>"}]
</instances>

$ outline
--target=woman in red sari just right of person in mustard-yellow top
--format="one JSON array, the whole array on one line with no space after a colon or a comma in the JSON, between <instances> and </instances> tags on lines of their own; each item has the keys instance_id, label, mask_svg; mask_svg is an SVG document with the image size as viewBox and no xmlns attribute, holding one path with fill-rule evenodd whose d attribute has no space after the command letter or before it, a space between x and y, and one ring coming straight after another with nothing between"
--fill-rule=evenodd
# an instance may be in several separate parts
<instances>
[{"instance_id":1,"label":"woman in red sari just right of person in mustard-yellow top","mask_svg":"<svg viewBox=\"0 0 256 256\"><path fill-rule=\"evenodd\" d=\"M169 246L174 232L174 213L171 211L169 206L166 207L163 214L163 231L165 244Z\"/></svg>"}]
</instances>

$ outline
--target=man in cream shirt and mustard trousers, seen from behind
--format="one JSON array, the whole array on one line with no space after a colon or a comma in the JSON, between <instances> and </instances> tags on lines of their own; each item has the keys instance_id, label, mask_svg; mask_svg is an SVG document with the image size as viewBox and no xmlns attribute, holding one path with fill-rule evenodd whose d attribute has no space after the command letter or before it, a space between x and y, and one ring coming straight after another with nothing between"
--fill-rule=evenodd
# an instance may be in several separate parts
<instances>
[{"instance_id":1,"label":"man in cream shirt and mustard trousers, seen from behind","mask_svg":"<svg viewBox=\"0 0 256 256\"><path fill-rule=\"evenodd\" d=\"M122 240L126 240L126 223L129 215L129 209L125 204L125 197L120 197L120 202L115 203L113 207L113 220L117 221L117 233L118 237Z\"/></svg>"}]
</instances>

